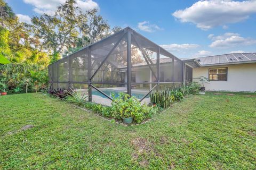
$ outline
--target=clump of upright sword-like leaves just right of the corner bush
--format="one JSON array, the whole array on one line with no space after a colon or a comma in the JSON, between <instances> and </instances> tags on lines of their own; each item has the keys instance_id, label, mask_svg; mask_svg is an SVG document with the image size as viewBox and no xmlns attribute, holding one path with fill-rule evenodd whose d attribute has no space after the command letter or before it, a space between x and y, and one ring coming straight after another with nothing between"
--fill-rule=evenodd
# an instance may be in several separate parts
<instances>
[{"instance_id":1,"label":"clump of upright sword-like leaves just right of the corner bush","mask_svg":"<svg viewBox=\"0 0 256 170\"><path fill-rule=\"evenodd\" d=\"M164 88L164 90L155 90L151 92L150 101L153 104L167 108L171 106L172 102L174 101L174 96L171 94L170 88Z\"/></svg>"}]
</instances>

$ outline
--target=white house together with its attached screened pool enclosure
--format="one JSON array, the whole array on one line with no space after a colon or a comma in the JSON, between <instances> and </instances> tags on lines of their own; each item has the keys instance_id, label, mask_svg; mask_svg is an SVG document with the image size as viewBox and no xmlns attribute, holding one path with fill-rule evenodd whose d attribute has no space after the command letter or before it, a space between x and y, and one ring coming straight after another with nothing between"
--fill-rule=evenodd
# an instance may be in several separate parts
<instances>
[{"instance_id":1,"label":"white house together with its attached screened pool enclosure","mask_svg":"<svg viewBox=\"0 0 256 170\"><path fill-rule=\"evenodd\" d=\"M51 89L82 89L90 101L126 92L140 100L156 87L210 79L206 90L256 91L256 53L180 60L127 27L49 65Z\"/></svg>"}]
</instances>

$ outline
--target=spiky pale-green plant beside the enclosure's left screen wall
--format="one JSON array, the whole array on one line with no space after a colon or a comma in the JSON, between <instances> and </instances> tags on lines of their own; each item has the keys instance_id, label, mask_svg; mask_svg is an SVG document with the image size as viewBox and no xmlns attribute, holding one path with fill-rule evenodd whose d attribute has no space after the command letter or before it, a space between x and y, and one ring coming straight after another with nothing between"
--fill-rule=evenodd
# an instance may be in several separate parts
<instances>
[{"instance_id":1,"label":"spiky pale-green plant beside the enclosure's left screen wall","mask_svg":"<svg viewBox=\"0 0 256 170\"><path fill-rule=\"evenodd\" d=\"M82 94L81 90L78 91L67 91L66 92L67 95L65 96L65 99L71 103L74 103L78 106L82 106L86 103L86 98L88 97L85 94ZM65 94L65 90L64 90L64 94Z\"/></svg>"}]
</instances>

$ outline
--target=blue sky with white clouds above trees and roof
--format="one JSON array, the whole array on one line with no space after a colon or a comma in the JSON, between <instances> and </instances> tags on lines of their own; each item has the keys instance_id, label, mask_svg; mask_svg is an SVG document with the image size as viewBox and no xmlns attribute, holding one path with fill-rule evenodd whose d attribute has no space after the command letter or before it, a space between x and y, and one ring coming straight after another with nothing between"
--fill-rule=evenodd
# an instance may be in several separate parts
<instances>
[{"instance_id":1,"label":"blue sky with white clouds above trees and roof","mask_svg":"<svg viewBox=\"0 0 256 170\"><path fill-rule=\"evenodd\" d=\"M65 0L7 0L20 20L51 13ZM256 52L256 1L77 0L99 8L111 27L131 27L179 58Z\"/></svg>"}]
</instances>

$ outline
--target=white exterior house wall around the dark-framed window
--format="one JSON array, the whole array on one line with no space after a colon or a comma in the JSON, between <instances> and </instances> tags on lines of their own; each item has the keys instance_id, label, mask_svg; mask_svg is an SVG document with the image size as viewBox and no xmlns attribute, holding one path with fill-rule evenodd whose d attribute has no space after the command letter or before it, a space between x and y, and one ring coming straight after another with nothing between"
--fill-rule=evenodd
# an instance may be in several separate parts
<instances>
[{"instance_id":1,"label":"white exterior house wall around the dark-framed window","mask_svg":"<svg viewBox=\"0 0 256 170\"><path fill-rule=\"evenodd\" d=\"M256 63L250 64L233 64L233 65L219 65L209 67L199 67L193 69L194 78L203 75L209 77L209 68L228 67L227 81L210 81L205 83L205 90L209 91L256 91Z\"/></svg>"}]
</instances>

